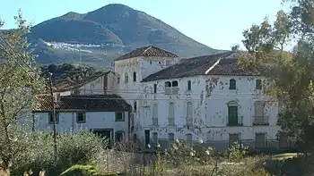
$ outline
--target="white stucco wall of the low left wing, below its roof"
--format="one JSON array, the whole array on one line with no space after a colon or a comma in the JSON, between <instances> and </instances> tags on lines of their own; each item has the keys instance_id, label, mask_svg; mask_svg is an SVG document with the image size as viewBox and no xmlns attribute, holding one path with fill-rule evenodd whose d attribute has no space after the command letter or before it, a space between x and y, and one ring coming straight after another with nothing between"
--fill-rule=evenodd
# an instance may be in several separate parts
<instances>
[{"instance_id":1,"label":"white stucco wall of the low left wing, below its roof","mask_svg":"<svg viewBox=\"0 0 314 176\"><path fill-rule=\"evenodd\" d=\"M58 112L59 122L57 123L57 132L67 131L89 131L89 130L106 130L113 129L128 133L128 112L125 112L125 121L116 122L115 112L86 112L84 123L76 122L76 113ZM48 112L35 113L35 129L36 130L53 130L53 125L48 122Z\"/></svg>"}]
</instances>

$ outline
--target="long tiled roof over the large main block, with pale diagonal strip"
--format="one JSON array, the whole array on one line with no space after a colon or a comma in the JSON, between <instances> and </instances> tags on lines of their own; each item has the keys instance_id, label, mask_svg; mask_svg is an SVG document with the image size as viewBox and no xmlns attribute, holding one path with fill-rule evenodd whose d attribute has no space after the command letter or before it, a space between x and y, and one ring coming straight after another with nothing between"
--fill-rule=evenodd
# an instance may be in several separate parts
<instances>
[{"instance_id":1,"label":"long tiled roof over the large main block, with pale diagonal strip","mask_svg":"<svg viewBox=\"0 0 314 176\"><path fill-rule=\"evenodd\" d=\"M249 76L254 75L252 71L238 66L238 60L232 57L234 52L222 54L211 54L205 56L184 59L180 63L174 64L164 70L155 72L142 80L177 79L196 75L234 75Z\"/></svg>"}]
</instances>

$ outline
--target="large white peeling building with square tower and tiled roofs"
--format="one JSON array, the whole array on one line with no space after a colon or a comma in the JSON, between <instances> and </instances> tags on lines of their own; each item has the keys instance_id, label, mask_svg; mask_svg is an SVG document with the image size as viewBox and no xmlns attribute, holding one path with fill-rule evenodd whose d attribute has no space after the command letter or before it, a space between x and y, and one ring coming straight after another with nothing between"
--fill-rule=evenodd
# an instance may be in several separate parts
<instances>
[{"instance_id":1,"label":"large white peeling building with square tower and tiled roofs","mask_svg":"<svg viewBox=\"0 0 314 176\"><path fill-rule=\"evenodd\" d=\"M234 140L269 147L280 130L263 77L240 68L233 52L179 61L150 46L115 60L118 95L133 106L143 146L175 138L218 148Z\"/></svg>"}]
</instances>

